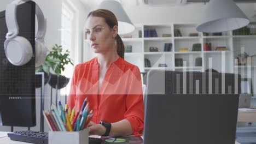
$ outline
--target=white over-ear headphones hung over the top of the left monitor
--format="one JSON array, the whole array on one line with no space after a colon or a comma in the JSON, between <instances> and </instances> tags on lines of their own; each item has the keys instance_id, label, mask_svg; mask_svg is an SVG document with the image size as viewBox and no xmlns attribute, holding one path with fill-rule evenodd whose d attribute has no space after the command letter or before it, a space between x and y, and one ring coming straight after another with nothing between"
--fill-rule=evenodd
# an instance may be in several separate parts
<instances>
[{"instance_id":1,"label":"white over-ear headphones hung over the top of the left monitor","mask_svg":"<svg viewBox=\"0 0 256 144\"><path fill-rule=\"evenodd\" d=\"M22 1L28 2L30 0L15 0L8 4L5 9L5 20L8 33L5 36L4 51L8 61L13 65L24 65L29 62L33 56L33 49L30 41L24 37L18 36L19 26L16 19L16 9L18 4ZM44 19L43 12L37 4L36 16L38 21L38 32L35 37L35 66L38 67L44 63L48 49L44 44L46 19Z\"/></svg>"}]
</instances>

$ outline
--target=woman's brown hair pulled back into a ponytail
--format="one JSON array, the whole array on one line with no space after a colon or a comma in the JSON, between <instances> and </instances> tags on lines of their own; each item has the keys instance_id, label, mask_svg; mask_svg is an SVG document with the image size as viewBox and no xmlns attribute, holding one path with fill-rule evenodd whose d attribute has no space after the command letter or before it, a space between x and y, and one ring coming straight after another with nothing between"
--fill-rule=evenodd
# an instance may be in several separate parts
<instances>
[{"instance_id":1,"label":"woman's brown hair pulled back into a ponytail","mask_svg":"<svg viewBox=\"0 0 256 144\"><path fill-rule=\"evenodd\" d=\"M97 10L91 11L88 14L87 18L89 16L96 16L96 17L104 18L107 25L110 28L113 28L114 26L118 26L117 17L115 17L115 15L107 9L97 9ZM123 40L121 39L121 37L119 35L117 35L117 37L115 37L115 39L117 41L117 53L121 58L124 59L124 43L123 43Z\"/></svg>"}]
</instances>

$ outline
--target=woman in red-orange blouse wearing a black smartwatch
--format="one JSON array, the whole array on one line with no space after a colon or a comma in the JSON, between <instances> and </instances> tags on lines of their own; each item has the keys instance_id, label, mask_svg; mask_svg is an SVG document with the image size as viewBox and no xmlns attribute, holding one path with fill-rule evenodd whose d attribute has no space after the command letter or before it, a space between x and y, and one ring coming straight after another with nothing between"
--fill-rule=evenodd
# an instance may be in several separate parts
<instances>
[{"instance_id":1,"label":"woman in red-orange blouse wearing a black smartwatch","mask_svg":"<svg viewBox=\"0 0 256 144\"><path fill-rule=\"evenodd\" d=\"M144 106L138 67L124 61L118 21L106 9L91 11L86 35L97 57L75 66L68 105L78 111L87 97L94 117L89 135L141 135ZM101 124L99 124L102 122Z\"/></svg>"}]
</instances>

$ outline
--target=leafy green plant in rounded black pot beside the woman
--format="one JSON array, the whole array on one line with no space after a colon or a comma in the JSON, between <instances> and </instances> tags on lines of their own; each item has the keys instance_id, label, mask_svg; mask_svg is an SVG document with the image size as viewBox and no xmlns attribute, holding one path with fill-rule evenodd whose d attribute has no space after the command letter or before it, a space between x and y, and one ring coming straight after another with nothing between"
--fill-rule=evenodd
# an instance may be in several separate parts
<instances>
[{"instance_id":1,"label":"leafy green plant in rounded black pot beside the woman","mask_svg":"<svg viewBox=\"0 0 256 144\"><path fill-rule=\"evenodd\" d=\"M69 51L62 51L62 46L55 44L53 50L49 52L47 57L52 59L54 65L50 65L55 74L51 74L51 79L49 81L49 85L53 88L61 89L67 85L69 82L69 78L61 75L61 72L65 70L65 65L73 64L71 58L69 58Z\"/></svg>"}]
</instances>

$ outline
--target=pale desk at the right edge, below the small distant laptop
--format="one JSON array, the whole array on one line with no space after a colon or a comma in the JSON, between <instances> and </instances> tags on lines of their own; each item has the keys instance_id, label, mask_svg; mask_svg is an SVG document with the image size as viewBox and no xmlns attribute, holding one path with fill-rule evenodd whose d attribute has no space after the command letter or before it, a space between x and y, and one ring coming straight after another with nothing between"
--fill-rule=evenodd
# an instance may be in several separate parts
<instances>
[{"instance_id":1,"label":"pale desk at the right edge, below the small distant laptop","mask_svg":"<svg viewBox=\"0 0 256 144\"><path fill-rule=\"evenodd\" d=\"M241 111L238 109L237 122L256 122L256 110Z\"/></svg>"}]
</instances>

